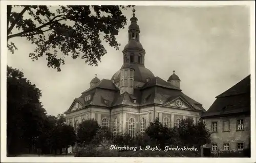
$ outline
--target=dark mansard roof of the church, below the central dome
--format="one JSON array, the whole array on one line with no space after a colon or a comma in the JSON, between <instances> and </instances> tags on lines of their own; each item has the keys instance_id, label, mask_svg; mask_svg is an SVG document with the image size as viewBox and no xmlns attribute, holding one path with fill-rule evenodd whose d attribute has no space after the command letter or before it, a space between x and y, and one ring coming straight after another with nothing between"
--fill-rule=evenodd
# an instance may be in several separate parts
<instances>
[{"instance_id":1,"label":"dark mansard roof of the church, below the central dome","mask_svg":"<svg viewBox=\"0 0 256 163\"><path fill-rule=\"evenodd\" d=\"M120 91L115 87L111 80L103 79L96 87L84 91L81 97L76 98L76 100L83 102L84 106L94 105L101 107L115 107L118 105L129 105L131 107L140 107L150 104L166 106L167 103L177 98L181 98L192 109L196 111L205 111L202 104L183 94L181 89L176 87L173 88L168 84L168 82L161 78L155 77L148 82L148 85L145 85L145 87L135 88L133 95L126 91L120 95ZM88 95L91 95L91 100L85 102L84 98ZM110 105L106 106L104 100L108 100Z\"/></svg>"}]
</instances>

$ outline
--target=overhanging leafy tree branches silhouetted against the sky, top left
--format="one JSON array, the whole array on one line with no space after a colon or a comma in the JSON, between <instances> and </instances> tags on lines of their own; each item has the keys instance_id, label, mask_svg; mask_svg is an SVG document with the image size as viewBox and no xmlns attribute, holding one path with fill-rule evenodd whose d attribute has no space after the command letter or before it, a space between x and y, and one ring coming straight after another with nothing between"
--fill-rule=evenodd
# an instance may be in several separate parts
<instances>
[{"instance_id":1,"label":"overhanging leafy tree branches silhouetted against the sky, top left","mask_svg":"<svg viewBox=\"0 0 256 163\"><path fill-rule=\"evenodd\" d=\"M116 36L126 25L122 9L131 6L7 6L8 49L17 50L14 37L25 37L36 45L31 59L46 56L48 66L65 64L65 56L81 57L85 63L96 65L106 50L101 40L116 50ZM16 10L20 9L20 12ZM27 15L26 15L27 14ZM14 31L16 28L16 31Z\"/></svg>"}]
</instances>

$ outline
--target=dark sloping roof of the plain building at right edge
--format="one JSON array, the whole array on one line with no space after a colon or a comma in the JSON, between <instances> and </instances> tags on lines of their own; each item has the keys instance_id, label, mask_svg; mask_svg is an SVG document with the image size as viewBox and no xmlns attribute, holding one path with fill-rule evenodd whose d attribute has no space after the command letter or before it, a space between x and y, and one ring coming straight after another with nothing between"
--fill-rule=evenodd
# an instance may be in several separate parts
<instances>
[{"instance_id":1,"label":"dark sloping roof of the plain building at right edge","mask_svg":"<svg viewBox=\"0 0 256 163\"><path fill-rule=\"evenodd\" d=\"M216 97L201 118L250 112L250 75Z\"/></svg>"}]
</instances>

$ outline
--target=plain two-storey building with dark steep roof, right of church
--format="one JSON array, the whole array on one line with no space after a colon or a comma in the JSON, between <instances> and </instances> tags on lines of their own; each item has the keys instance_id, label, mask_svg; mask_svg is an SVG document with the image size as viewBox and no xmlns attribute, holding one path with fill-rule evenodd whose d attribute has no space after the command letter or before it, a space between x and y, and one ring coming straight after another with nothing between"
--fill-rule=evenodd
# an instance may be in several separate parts
<instances>
[{"instance_id":1,"label":"plain two-storey building with dark steep roof, right of church","mask_svg":"<svg viewBox=\"0 0 256 163\"><path fill-rule=\"evenodd\" d=\"M211 151L250 146L250 75L216 97L201 117L211 133Z\"/></svg>"}]
</instances>

